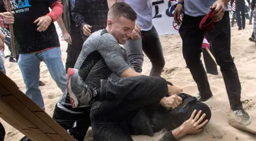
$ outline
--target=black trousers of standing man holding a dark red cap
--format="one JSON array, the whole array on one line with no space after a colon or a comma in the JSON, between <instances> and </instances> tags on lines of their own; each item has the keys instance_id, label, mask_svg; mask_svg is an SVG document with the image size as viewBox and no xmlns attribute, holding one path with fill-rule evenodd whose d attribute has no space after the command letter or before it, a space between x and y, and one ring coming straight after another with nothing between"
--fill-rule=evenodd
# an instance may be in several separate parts
<instances>
[{"instance_id":1,"label":"black trousers of standing man holding a dark red cap","mask_svg":"<svg viewBox=\"0 0 256 141\"><path fill-rule=\"evenodd\" d=\"M208 41L212 43L216 62L221 67L221 73L223 74L223 79L225 81L231 109L241 109L241 85L236 65L234 64L230 53L231 33L229 12L225 12L223 19L216 24L215 30L210 34L203 33L203 31L199 29L199 22L202 18L203 16L192 17L184 14L184 19L179 32L182 37L182 52L186 64L190 69L193 79L197 83L201 97L209 98L212 96L207 75L200 61L202 52L201 43L203 41L203 36L205 35Z\"/></svg>"}]
</instances>

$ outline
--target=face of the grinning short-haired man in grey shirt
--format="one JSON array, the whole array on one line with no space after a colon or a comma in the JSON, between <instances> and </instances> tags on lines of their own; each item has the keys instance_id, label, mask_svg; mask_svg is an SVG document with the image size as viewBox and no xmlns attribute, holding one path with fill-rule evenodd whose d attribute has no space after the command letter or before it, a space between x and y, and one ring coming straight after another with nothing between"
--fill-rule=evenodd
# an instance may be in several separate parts
<instances>
[{"instance_id":1,"label":"face of the grinning short-haired man in grey shirt","mask_svg":"<svg viewBox=\"0 0 256 141\"><path fill-rule=\"evenodd\" d=\"M109 19L108 26L111 29L110 33L117 39L118 43L124 45L132 35L135 21L124 17L117 18L115 21Z\"/></svg>"}]
</instances>

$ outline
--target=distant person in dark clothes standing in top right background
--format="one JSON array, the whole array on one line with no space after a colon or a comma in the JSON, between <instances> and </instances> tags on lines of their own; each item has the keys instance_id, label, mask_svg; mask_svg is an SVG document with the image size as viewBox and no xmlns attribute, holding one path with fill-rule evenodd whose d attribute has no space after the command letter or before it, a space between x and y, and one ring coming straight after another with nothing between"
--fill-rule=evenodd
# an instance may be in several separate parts
<instances>
[{"instance_id":1,"label":"distant person in dark clothes standing in top right background","mask_svg":"<svg viewBox=\"0 0 256 141\"><path fill-rule=\"evenodd\" d=\"M231 0L231 7L233 5L233 1ZM250 0L247 0L250 5ZM238 31L245 28L245 1L244 0L236 0L236 14L237 14L237 22L238 22ZM241 20L242 16L242 20ZM241 24L242 21L242 24Z\"/></svg>"}]
</instances>

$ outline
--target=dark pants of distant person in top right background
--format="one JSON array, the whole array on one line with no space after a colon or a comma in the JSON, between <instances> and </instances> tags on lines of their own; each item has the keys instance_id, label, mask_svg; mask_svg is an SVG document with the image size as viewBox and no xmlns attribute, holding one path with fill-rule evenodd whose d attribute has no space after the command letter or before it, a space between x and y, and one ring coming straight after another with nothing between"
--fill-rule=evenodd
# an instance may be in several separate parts
<instances>
[{"instance_id":1,"label":"dark pants of distant person in top right background","mask_svg":"<svg viewBox=\"0 0 256 141\"><path fill-rule=\"evenodd\" d=\"M245 3L241 5L236 5L236 17L239 28L245 28ZM242 20L241 20L242 17ZM242 23L242 24L241 24Z\"/></svg>"}]
</instances>

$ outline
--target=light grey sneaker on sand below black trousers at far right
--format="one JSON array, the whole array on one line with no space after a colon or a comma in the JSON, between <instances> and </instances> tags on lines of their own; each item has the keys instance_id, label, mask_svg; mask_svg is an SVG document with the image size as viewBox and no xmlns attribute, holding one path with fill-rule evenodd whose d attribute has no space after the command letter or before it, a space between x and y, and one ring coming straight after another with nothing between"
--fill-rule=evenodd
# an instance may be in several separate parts
<instances>
[{"instance_id":1,"label":"light grey sneaker on sand below black trousers at far right","mask_svg":"<svg viewBox=\"0 0 256 141\"><path fill-rule=\"evenodd\" d=\"M251 117L244 111L244 109L233 110L233 114L236 116L236 120L243 125L249 125L251 123Z\"/></svg>"}]
</instances>

